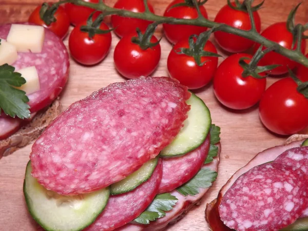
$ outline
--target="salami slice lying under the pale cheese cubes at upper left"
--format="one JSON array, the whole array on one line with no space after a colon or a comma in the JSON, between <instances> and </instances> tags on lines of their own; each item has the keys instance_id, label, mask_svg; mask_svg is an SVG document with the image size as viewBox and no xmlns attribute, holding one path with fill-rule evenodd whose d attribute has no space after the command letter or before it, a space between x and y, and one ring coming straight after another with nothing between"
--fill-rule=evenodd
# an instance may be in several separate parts
<instances>
[{"instance_id":1,"label":"salami slice lying under the pale cheese cubes at upper left","mask_svg":"<svg viewBox=\"0 0 308 231\"><path fill-rule=\"evenodd\" d=\"M0 38L6 40L10 28L11 24L1 25ZM28 95L30 111L35 112L51 104L64 88L68 79L69 56L61 38L45 28L42 52L18 52L18 59L12 66L17 72L35 66L40 90Z\"/></svg>"}]
</instances>

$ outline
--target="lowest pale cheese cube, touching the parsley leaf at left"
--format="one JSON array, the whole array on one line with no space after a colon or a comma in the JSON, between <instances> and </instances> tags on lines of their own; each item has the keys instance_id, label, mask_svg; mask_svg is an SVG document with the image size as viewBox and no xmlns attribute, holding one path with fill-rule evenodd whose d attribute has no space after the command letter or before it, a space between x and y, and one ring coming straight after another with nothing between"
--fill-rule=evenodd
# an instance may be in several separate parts
<instances>
[{"instance_id":1,"label":"lowest pale cheese cube, touching the parsley leaf at left","mask_svg":"<svg viewBox=\"0 0 308 231\"><path fill-rule=\"evenodd\" d=\"M16 72L21 73L22 77L24 77L27 81L21 87L17 87L18 89L25 91L27 95L40 90L40 80L38 79L38 74L35 66L26 67L17 70Z\"/></svg>"}]
</instances>

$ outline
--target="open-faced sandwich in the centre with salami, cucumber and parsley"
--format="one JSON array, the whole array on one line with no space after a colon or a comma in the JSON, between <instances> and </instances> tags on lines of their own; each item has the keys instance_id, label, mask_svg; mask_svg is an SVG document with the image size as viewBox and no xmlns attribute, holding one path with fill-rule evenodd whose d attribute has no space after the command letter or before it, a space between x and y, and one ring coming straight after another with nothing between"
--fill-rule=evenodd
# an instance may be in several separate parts
<instances>
[{"instance_id":1,"label":"open-faced sandwich in the centre with salami, cucumber and parsley","mask_svg":"<svg viewBox=\"0 0 308 231\"><path fill-rule=\"evenodd\" d=\"M216 180L220 128L165 77L73 103L32 146L24 195L45 230L161 230Z\"/></svg>"}]
</instances>

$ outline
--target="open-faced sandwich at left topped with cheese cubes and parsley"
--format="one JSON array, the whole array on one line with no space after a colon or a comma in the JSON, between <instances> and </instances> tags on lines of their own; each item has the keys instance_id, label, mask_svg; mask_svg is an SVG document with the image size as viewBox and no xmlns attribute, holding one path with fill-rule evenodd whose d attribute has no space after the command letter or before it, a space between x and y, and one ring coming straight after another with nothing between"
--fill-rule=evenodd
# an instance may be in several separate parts
<instances>
[{"instance_id":1,"label":"open-faced sandwich at left topped with cheese cubes and parsley","mask_svg":"<svg viewBox=\"0 0 308 231\"><path fill-rule=\"evenodd\" d=\"M68 79L69 56L61 38L42 26L1 25L0 40L1 159L60 114L56 98Z\"/></svg>"}]
</instances>

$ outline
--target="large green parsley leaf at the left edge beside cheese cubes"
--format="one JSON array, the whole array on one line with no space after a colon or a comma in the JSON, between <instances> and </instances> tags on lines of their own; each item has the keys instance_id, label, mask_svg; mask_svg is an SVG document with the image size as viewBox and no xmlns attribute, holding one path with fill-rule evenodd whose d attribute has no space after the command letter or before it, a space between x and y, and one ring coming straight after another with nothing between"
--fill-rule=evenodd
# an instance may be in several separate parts
<instances>
[{"instance_id":1,"label":"large green parsley leaf at the left edge beside cheese cubes","mask_svg":"<svg viewBox=\"0 0 308 231\"><path fill-rule=\"evenodd\" d=\"M25 91L14 87L21 87L26 80L20 73L14 72L15 68L4 64L0 66L0 108L10 115L21 119L29 118L29 99Z\"/></svg>"}]
</instances>

